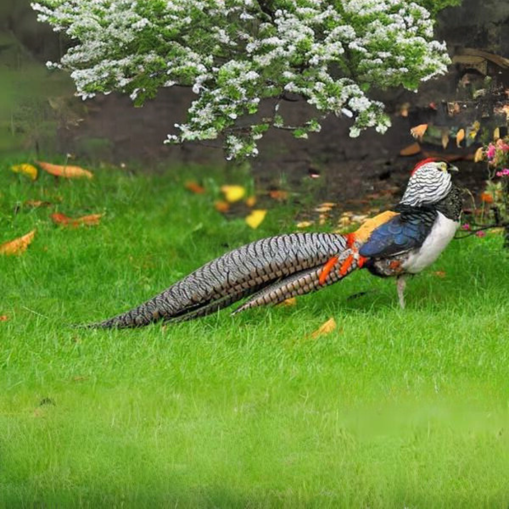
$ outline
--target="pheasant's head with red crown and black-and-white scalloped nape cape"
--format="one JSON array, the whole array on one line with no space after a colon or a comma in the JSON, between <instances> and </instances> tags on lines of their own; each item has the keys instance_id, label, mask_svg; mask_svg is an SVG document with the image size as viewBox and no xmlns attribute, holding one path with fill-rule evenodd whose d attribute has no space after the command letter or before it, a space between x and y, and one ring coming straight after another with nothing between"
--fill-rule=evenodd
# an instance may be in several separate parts
<instances>
[{"instance_id":1,"label":"pheasant's head with red crown and black-and-white scalloped nape cape","mask_svg":"<svg viewBox=\"0 0 509 509\"><path fill-rule=\"evenodd\" d=\"M435 158L418 162L400 203L420 207L443 200L453 187L449 172L457 171L456 166Z\"/></svg>"}]
</instances>

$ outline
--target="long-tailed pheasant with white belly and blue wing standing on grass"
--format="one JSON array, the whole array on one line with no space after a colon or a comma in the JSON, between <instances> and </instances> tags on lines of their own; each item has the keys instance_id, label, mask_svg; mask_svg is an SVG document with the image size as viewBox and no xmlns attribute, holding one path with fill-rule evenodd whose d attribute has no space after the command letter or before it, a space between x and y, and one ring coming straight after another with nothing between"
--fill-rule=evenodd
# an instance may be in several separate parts
<instances>
[{"instance_id":1,"label":"long-tailed pheasant with white belly and blue wing standing on grass","mask_svg":"<svg viewBox=\"0 0 509 509\"><path fill-rule=\"evenodd\" d=\"M458 228L461 191L449 173L457 169L433 158L420 161L394 210L366 220L357 231L293 233L251 242L128 312L88 327L190 320L250 296L236 314L319 290L361 268L380 277L394 276L400 305L405 307L405 276L431 265Z\"/></svg>"}]
</instances>

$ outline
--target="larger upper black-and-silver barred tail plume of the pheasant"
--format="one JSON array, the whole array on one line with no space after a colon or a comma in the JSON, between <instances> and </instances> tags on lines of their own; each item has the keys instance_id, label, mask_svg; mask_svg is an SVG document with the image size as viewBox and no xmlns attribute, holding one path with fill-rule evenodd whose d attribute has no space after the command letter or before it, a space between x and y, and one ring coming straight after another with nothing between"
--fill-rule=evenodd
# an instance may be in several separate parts
<instances>
[{"instance_id":1,"label":"larger upper black-and-silver barred tail plume of the pheasant","mask_svg":"<svg viewBox=\"0 0 509 509\"><path fill-rule=\"evenodd\" d=\"M295 233L257 240L212 260L128 312L88 327L140 327L161 319L205 316L278 279L319 270L346 248L345 237L327 233Z\"/></svg>"}]
</instances>

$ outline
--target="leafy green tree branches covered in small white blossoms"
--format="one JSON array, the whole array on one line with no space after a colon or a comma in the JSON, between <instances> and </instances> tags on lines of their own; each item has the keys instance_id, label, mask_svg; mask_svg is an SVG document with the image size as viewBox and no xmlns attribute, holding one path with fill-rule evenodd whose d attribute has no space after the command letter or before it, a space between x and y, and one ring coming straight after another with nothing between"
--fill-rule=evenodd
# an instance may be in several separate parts
<instances>
[{"instance_id":1,"label":"leafy green tree branches covered in small white blossoms","mask_svg":"<svg viewBox=\"0 0 509 509\"><path fill-rule=\"evenodd\" d=\"M370 89L404 86L446 70L433 15L459 0L41 0L39 20L75 45L58 64L78 94L121 91L136 105L161 87L196 94L168 143L224 135L227 157L257 155L271 127L297 137L327 114L352 119L351 136L390 125ZM279 103L298 95L315 106L290 126ZM267 118L260 101L272 98ZM258 115L257 115L258 114Z\"/></svg>"}]
</instances>

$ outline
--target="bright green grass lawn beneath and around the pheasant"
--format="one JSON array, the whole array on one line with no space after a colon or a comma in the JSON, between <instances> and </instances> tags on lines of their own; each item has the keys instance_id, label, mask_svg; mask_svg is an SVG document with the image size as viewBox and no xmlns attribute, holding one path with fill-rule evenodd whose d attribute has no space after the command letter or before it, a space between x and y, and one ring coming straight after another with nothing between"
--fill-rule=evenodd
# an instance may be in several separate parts
<instances>
[{"instance_id":1,"label":"bright green grass lawn beneath and around the pheasant","mask_svg":"<svg viewBox=\"0 0 509 509\"><path fill-rule=\"evenodd\" d=\"M507 507L499 236L453 241L408 282L405 310L393 281L361 271L293 307L75 329L294 231L295 207L251 230L213 208L218 186L244 174L103 169L31 183L13 162L0 163L0 244L37 235L0 257L0 506ZM184 189L193 175L205 195ZM54 211L105 215L66 229ZM331 317L337 329L313 339Z\"/></svg>"}]
</instances>

